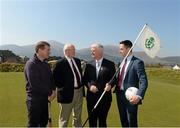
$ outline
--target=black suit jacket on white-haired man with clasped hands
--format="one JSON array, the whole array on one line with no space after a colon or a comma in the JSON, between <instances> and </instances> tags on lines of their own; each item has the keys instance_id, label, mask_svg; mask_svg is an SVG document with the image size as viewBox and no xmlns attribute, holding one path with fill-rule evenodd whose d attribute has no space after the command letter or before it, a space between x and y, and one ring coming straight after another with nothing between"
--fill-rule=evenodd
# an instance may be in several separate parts
<instances>
[{"instance_id":1,"label":"black suit jacket on white-haired man with clasped hands","mask_svg":"<svg viewBox=\"0 0 180 128\"><path fill-rule=\"evenodd\" d=\"M96 78L96 63L95 61L92 64L86 65L86 70L84 73L84 84L87 86L87 93L95 95L94 93L89 91L88 85L95 85L99 92L98 94L102 94L104 91L106 83L110 81L112 76L115 73L115 64L112 61L109 61L105 58L102 60L102 65L98 74L98 78ZM113 85L112 85L113 86ZM88 95L88 94L87 94ZM106 92L106 96L109 101L112 101L111 91Z\"/></svg>"}]
</instances>

